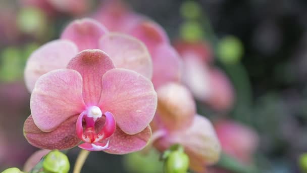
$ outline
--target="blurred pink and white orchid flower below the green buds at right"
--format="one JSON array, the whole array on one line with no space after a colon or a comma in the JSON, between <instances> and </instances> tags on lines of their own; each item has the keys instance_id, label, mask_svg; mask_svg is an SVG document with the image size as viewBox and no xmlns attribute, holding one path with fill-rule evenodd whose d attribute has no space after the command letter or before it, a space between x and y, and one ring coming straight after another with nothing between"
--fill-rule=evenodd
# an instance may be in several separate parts
<instances>
[{"instance_id":1,"label":"blurred pink and white orchid flower below the green buds at right","mask_svg":"<svg viewBox=\"0 0 307 173\"><path fill-rule=\"evenodd\" d=\"M193 96L216 110L229 110L234 103L234 89L226 74L211 66L208 45L177 41L175 48L183 58L183 82Z\"/></svg>"}]
</instances>

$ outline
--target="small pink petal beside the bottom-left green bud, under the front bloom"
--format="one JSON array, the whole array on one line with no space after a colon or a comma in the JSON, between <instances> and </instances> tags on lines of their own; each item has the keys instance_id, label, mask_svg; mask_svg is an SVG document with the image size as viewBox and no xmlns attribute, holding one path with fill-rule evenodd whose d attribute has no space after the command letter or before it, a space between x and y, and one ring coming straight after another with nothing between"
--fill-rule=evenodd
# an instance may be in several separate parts
<instances>
[{"instance_id":1,"label":"small pink petal beside the bottom-left green bud, under the front bloom","mask_svg":"<svg viewBox=\"0 0 307 173\"><path fill-rule=\"evenodd\" d=\"M29 172L40 160L43 156L48 154L51 150L38 150L35 151L25 162L23 171Z\"/></svg>"}]
</instances>

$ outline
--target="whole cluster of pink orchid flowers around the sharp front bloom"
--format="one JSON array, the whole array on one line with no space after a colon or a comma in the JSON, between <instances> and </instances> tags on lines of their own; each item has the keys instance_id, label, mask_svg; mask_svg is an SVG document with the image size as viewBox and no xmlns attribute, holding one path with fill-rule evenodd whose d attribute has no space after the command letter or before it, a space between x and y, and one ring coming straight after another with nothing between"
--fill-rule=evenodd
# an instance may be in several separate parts
<instances>
[{"instance_id":1,"label":"whole cluster of pink orchid flowers around the sharp front bloom","mask_svg":"<svg viewBox=\"0 0 307 173\"><path fill-rule=\"evenodd\" d=\"M219 160L221 146L193 98L227 110L233 91L225 75L210 67L210 51L202 44L179 41L173 48L161 26L118 1L93 19L72 21L27 61L26 139L42 149L78 146L110 154L145 146L164 152L179 144L190 169L206 171Z\"/></svg>"}]
</instances>

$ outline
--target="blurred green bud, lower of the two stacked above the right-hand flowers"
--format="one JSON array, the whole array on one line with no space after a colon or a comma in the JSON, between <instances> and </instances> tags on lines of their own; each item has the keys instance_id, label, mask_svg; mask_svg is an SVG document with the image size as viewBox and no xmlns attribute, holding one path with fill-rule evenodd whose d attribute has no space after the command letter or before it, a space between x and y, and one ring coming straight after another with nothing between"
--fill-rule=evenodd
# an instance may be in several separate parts
<instances>
[{"instance_id":1,"label":"blurred green bud, lower of the two stacked above the right-hand flowers","mask_svg":"<svg viewBox=\"0 0 307 173\"><path fill-rule=\"evenodd\" d=\"M180 36L185 41L194 42L202 39L204 33L198 22L188 21L180 26Z\"/></svg>"}]
</instances>

